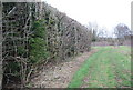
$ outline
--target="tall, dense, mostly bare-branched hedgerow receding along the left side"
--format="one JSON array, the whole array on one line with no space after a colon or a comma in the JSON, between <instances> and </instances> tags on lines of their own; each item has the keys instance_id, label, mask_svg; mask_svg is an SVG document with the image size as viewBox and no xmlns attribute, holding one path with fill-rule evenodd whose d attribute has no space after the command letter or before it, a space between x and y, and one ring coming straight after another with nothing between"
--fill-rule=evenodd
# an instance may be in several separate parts
<instances>
[{"instance_id":1,"label":"tall, dense, mostly bare-branched hedgerow receding along the left side","mask_svg":"<svg viewBox=\"0 0 133 90\"><path fill-rule=\"evenodd\" d=\"M60 62L90 51L91 32L47 3L4 3L2 16L6 84L13 76L25 86L40 63Z\"/></svg>"}]
</instances>

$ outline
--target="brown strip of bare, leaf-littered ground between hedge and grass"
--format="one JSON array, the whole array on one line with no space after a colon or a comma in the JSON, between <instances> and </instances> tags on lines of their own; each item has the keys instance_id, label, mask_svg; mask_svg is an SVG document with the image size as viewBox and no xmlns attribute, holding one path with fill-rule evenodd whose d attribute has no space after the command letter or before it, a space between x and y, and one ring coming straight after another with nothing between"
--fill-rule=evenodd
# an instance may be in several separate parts
<instances>
[{"instance_id":1,"label":"brown strip of bare, leaf-littered ground between hedge and grass","mask_svg":"<svg viewBox=\"0 0 133 90\"><path fill-rule=\"evenodd\" d=\"M84 52L69 62L62 62L49 69L43 69L39 72L38 77L31 80L32 87L66 88L75 71L78 71L80 66L94 52L96 52L96 50Z\"/></svg>"}]
</instances>

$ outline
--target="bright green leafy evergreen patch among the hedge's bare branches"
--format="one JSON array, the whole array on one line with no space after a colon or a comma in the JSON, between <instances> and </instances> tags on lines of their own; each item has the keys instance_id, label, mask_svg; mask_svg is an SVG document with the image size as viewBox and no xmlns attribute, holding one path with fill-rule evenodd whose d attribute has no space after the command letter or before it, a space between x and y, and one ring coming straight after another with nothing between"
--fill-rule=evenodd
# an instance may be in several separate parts
<instances>
[{"instance_id":1,"label":"bright green leafy evergreen patch among the hedge's bare branches","mask_svg":"<svg viewBox=\"0 0 133 90\"><path fill-rule=\"evenodd\" d=\"M38 63L49 57L44 20L34 21L30 40L30 62Z\"/></svg>"}]
</instances>

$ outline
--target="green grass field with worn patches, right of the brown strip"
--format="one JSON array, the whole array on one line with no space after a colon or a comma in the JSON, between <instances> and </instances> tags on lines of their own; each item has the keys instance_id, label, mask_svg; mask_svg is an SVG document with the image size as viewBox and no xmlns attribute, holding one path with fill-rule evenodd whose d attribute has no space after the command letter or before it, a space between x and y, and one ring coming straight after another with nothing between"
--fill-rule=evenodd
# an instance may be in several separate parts
<instances>
[{"instance_id":1,"label":"green grass field with worn patches, right of the brown strip","mask_svg":"<svg viewBox=\"0 0 133 90\"><path fill-rule=\"evenodd\" d=\"M73 76L69 88L120 88L131 87L131 58L129 47L95 47L92 54ZM89 78L88 82L83 81Z\"/></svg>"}]
</instances>

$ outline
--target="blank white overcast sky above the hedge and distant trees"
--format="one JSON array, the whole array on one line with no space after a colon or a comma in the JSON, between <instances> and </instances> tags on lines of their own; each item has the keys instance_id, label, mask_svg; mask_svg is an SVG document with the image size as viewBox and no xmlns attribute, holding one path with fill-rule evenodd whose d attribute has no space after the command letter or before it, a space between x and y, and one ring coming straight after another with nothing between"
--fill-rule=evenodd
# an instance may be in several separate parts
<instances>
[{"instance_id":1,"label":"blank white overcast sky above the hedge and distant trees","mask_svg":"<svg viewBox=\"0 0 133 90\"><path fill-rule=\"evenodd\" d=\"M96 22L112 32L117 23L131 29L132 0L43 0L82 24Z\"/></svg>"}]
</instances>

